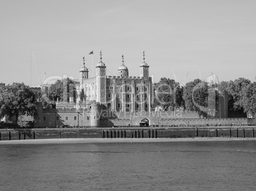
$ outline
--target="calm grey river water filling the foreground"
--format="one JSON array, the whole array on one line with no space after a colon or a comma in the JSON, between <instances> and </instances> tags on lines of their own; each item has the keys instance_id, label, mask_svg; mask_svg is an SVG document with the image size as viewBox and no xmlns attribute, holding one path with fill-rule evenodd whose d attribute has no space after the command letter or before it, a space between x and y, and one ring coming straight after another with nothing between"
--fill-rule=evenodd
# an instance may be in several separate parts
<instances>
[{"instance_id":1,"label":"calm grey river water filling the foreground","mask_svg":"<svg viewBox=\"0 0 256 191\"><path fill-rule=\"evenodd\" d=\"M256 190L256 142L0 145L0 190Z\"/></svg>"}]
</instances>

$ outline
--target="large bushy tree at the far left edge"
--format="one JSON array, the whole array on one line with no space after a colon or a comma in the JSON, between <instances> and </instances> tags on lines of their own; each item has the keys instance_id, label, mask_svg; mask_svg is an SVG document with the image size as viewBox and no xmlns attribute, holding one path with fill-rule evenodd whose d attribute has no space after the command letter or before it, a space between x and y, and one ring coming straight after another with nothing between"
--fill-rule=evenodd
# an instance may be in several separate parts
<instances>
[{"instance_id":1,"label":"large bushy tree at the far left edge","mask_svg":"<svg viewBox=\"0 0 256 191\"><path fill-rule=\"evenodd\" d=\"M13 83L0 89L0 117L36 114L36 96L24 83Z\"/></svg>"}]
</instances>

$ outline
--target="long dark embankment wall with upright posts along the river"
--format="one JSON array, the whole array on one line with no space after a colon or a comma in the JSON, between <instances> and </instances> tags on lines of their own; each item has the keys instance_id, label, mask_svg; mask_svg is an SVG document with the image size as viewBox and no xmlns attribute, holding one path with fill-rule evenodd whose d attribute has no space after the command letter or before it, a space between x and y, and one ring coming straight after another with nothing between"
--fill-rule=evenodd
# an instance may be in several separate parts
<instances>
[{"instance_id":1,"label":"long dark embankment wall with upright posts along the river","mask_svg":"<svg viewBox=\"0 0 256 191\"><path fill-rule=\"evenodd\" d=\"M51 138L255 138L256 126L0 129L0 141Z\"/></svg>"}]
</instances>

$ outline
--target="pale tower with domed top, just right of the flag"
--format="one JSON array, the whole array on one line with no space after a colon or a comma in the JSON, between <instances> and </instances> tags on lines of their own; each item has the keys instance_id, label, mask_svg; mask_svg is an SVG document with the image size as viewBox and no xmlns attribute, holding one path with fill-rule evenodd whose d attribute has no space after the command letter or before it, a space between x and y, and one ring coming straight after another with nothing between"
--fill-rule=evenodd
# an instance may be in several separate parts
<instances>
[{"instance_id":1,"label":"pale tower with domed top, just right of the flag","mask_svg":"<svg viewBox=\"0 0 256 191\"><path fill-rule=\"evenodd\" d=\"M96 66L96 101L106 104L106 66L101 53L100 56L101 61Z\"/></svg>"}]
</instances>

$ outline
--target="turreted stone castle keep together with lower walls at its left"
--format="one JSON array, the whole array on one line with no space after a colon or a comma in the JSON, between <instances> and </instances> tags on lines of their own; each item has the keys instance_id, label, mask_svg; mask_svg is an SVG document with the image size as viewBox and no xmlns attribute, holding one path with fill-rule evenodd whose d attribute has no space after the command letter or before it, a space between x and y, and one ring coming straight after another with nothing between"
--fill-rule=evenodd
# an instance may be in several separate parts
<instances>
[{"instance_id":1,"label":"turreted stone castle keep together with lower walls at its left","mask_svg":"<svg viewBox=\"0 0 256 191\"><path fill-rule=\"evenodd\" d=\"M150 66L145 62L145 53L143 52L143 62L139 65L139 77L129 76L124 55L122 64L118 67L118 76L106 76L106 65L101 53L100 55L96 77L89 77L83 58L83 67L75 87L73 84L66 84L64 79L64 102L57 102L57 109L39 107L36 126L101 126L101 121L111 118L110 115L117 119L117 113L128 115L134 112L151 112L152 77L149 76ZM149 124L148 119L144 121L146 125Z\"/></svg>"}]
</instances>

